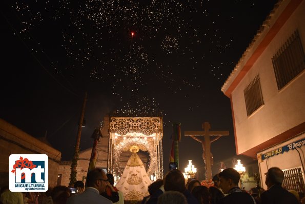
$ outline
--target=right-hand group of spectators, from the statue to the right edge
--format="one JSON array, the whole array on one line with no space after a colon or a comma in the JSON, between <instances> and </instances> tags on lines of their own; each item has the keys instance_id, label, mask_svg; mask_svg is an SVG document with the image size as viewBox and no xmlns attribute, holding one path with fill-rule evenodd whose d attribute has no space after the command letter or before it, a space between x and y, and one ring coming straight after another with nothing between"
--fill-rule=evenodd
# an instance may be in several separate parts
<instances>
[{"instance_id":1,"label":"right-hand group of spectators, from the statue to the right edge","mask_svg":"<svg viewBox=\"0 0 305 204\"><path fill-rule=\"evenodd\" d=\"M185 185L182 173L172 170L163 182L157 180L149 186L150 196L145 197L141 204L305 204L305 198L300 198L296 191L282 187L283 179L282 170L270 168L266 173L268 190L253 188L247 192L238 187L240 175L233 168L215 175L214 186L210 187L202 186L196 179L189 180Z\"/></svg>"}]
</instances>

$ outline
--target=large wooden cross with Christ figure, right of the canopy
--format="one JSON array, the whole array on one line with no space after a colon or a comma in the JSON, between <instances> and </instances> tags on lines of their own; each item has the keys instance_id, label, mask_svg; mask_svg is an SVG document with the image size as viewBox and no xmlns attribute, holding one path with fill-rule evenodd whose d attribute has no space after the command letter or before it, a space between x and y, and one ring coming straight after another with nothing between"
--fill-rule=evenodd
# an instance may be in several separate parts
<instances>
[{"instance_id":1,"label":"large wooden cross with Christ figure, right of the canopy","mask_svg":"<svg viewBox=\"0 0 305 204\"><path fill-rule=\"evenodd\" d=\"M213 165L213 156L211 154L211 143L216 141L223 135L229 135L229 131L209 131L211 128L211 124L209 122L205 122L202 124L202 129L204 131L185 131L185 136L190 136L196 141L199 141L202 145L202 158L206 164L206 179L212 179L212 169L211 166ZM199 139L196 136L204 136L204 139ZM216 136L214 139L210 139L210 136Z\"/></svg>"}]
</instances>

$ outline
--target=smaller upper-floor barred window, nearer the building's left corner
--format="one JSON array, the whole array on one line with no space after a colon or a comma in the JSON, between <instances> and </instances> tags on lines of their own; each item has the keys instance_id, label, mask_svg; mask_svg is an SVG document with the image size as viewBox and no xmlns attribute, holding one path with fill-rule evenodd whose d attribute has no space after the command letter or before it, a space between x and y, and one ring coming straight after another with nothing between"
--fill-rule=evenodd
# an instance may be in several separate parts
<instances>
[{"instance_id":1,"label":"smaller upper-floor barred window, nearer the building's left corner","mask_svg":"<svg viewBox=\"0 0 305 204\"><path fill-rule=\"evenodd\" d=\"M243 90L245 95L247 115L251 115L256 109L263 105L259 75L256 75L251 83Z\"/></svg>"}]
</instances>

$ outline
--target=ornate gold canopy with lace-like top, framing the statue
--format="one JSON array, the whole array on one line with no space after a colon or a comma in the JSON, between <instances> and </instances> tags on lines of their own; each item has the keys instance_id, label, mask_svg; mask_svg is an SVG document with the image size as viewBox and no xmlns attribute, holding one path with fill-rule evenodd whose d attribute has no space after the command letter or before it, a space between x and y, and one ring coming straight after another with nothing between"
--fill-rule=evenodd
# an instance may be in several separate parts
<instances>
[{"instance_id":1,"label":"ornate gold canopy with lace-like top, framing the statue","mask_svg":"<svg viewBox=\"0 0 305 204\"><path fill-rule=\"evenodd\" d=\"M110 117L108 169L123 173L119 166L121 151L137 146L150 154L147 174L163 177L162 164L162 117Z\"/></svg>"}]
</instances>

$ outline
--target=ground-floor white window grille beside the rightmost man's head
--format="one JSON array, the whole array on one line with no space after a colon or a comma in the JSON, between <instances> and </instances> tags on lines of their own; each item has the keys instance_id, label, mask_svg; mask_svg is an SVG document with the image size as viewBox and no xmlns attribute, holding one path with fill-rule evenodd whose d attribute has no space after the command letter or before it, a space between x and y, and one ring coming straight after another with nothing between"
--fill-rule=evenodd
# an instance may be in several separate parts
<instances>
[{"instance_id":1,"label":"ground-floor white window grille beside the rightmost man's head","mask_svg":"<svg viewBox=\"0 0 305 204\"><path fill-rule=\"evenodd\" d=\"M293 189L297 192L302 192L297 182L304 186L303 172L301 167L286 169L284 172L284 180L282 182L282 186L286 187L287 190Z\"/></svg>"}]
</instances>

